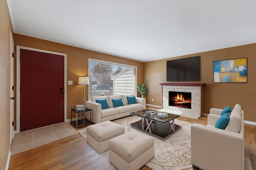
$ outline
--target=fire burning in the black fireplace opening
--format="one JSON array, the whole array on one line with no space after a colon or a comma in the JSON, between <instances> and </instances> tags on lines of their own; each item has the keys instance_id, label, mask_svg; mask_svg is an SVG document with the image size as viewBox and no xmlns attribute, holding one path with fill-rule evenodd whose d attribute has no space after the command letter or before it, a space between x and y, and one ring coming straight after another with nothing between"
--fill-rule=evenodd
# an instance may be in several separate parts
<instances>
[{"instance_id":1,"label":"fire burning in the black fireplace opening","mask_svg":"<svg viewBox=\"0 0 256 170\"><path fill-rule=\"evenodd\" d=\"M191 92L169 91L169 106L191 109Z\"/></svg>"}]
</instances>

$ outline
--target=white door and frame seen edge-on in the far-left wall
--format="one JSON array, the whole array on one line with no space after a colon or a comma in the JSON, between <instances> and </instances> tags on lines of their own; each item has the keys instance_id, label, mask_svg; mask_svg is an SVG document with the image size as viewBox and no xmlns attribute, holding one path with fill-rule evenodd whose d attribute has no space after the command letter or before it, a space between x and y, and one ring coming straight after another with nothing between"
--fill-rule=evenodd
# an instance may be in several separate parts
<instances>
[{"instance_id":1,"label":"white door and frame seen edge-on in the far-left wall","mask_svg":"<svg viewBox=\"0 0 256 170\"><path fill-rule=\"evenodd\" d=\"M9 43L10 43L10 98L14 97L14 90L12 89L12 86L14 86L14 42L12 38L12 33L10 31L10 37L9 37ZM10 99L10 145L12 143L12 139L14 138L14 125L12 125L12 122L14 121L14 100Z\"/></svg>"}]
</instances>

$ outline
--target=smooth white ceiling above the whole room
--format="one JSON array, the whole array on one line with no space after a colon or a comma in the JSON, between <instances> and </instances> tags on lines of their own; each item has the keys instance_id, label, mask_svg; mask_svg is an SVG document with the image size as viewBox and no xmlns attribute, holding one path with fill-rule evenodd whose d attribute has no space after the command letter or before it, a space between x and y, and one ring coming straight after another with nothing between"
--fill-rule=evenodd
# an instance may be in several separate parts
<instances>
[{"instance_id":1,"label":"smooth white ceiling above the whole room","mask_svg":"<svg viewBox=\"0 0 256 170\"><path fill-rule=\"evenodd\" d=\"M256 43L256 0L8 0L15 33L153 61Z\"/></svg>"}]
</instances>

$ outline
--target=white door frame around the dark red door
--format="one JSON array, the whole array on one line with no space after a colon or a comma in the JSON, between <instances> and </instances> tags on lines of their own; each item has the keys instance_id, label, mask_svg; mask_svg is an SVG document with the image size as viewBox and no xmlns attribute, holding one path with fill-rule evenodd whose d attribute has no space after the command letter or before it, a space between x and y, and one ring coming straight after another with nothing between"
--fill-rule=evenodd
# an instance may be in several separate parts
<instances>
[{"instance_id":1,"label":"white door frame around the dark red door","mask_svg":"<svg viewBox=\"0 0 256 170\"><path fill-rule=\"evenodd\" d=\"M17 45L16 50L16 133L20 133L20 49L64 56L64 122L67 122L67 55L53 51L34 49Z\"/></svg>"}]
</instances>

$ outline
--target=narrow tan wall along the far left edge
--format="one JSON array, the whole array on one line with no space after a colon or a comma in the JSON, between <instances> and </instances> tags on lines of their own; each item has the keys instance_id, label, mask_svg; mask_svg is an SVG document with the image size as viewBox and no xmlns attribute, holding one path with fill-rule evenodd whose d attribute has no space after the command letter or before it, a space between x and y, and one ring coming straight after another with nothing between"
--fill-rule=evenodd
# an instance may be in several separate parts
<instances>
[{"instance_id":1,"label":"narrow tan wall along the far left edge","mask_svg":"<svg viewBox=\"0 0 256 170\"><path fill-rule=\"evenodd\" d=\"M6 0L0 0L0 169L10 151L10 31L12 23Z\"/></svg>"}]
</instances>

